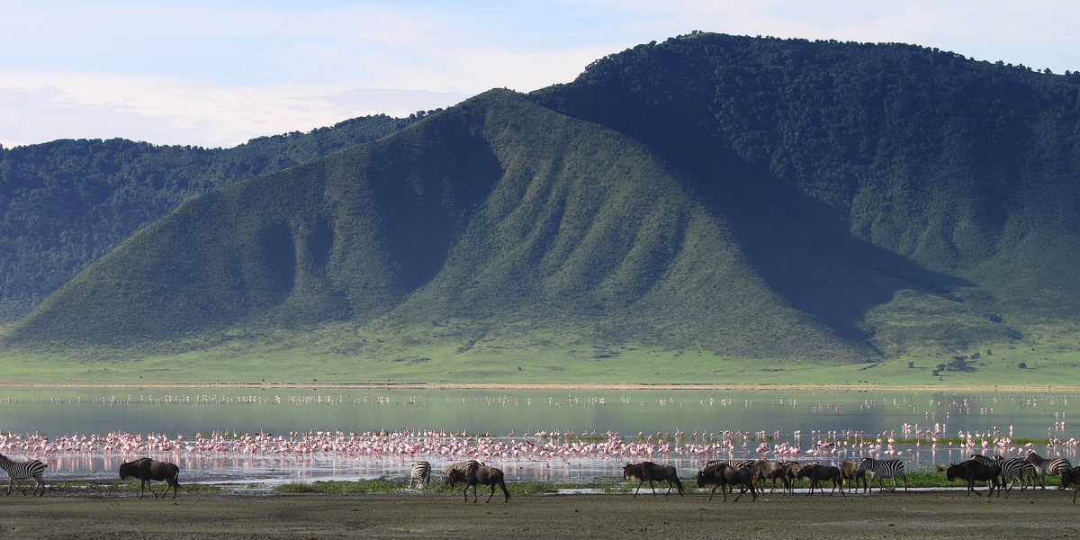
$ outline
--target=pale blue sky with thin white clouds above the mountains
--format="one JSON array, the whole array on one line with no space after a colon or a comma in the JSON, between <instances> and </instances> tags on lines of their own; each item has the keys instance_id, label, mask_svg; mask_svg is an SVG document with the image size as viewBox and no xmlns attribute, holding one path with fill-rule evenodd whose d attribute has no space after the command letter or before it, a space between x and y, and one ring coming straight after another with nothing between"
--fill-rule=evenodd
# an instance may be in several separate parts
<instances>
[{"instance_id":1,"label":"pale blue sky with thin white clouds above the mountains","mask_svg":"<svg viewBox=\"0 0 1080 540\"><path fill-rule=\"evenodd\" d=\"M692 30L1080 70L1077 0L0 0L0 145L232 147L569 82Z\"/></svg>"}]
</instances>

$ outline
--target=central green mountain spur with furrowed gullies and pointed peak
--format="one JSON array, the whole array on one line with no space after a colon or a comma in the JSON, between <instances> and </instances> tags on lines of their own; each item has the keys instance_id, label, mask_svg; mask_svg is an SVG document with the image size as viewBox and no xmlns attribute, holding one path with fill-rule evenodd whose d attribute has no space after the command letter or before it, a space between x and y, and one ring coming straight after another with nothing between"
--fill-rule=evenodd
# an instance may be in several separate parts
<instances>
[{"instance_id":1,"label":"central green mountain spur with furrowed gullies and pointed peak","mask_svg":"<svg viewBox=\"0 0 1080 540\"><path fill-rule=\"evenodd\" d=\"M184 204L13 337L123 345L375 318L576 325L728 354L863 353L784 306L646 148L497 91Z\"/></svg>"}]
</instances>

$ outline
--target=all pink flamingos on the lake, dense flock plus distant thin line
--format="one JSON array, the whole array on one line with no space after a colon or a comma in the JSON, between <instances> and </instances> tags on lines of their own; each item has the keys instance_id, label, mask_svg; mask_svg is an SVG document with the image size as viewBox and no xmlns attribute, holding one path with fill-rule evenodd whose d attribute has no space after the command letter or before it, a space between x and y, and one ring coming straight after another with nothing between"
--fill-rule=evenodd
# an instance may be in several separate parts
<instances>
[{"instance_id":1,"label":"all pink flamingos on the lake, dense flock plus distant thin line","mask_svg":"<svg viewBox=\"0 0 1080 540\"><path fill-rule=\"evenodd\" d=\"M416 397L394 399L367 396L349 399L329 395L298 396L144 396L103 397L87 400L96 405L134 405L134 404L179 404L179 405L418 405L426 400ZM438 399L441 402L442 399ZM450 403L450 397L447 397ZM467 403L465 397L461 397ZM477 401L477 400L472 400ZM483 401L483 400L481 400ZM548 405L561 405L557 400L543 399ZM996 399L994 400L996 401ZM511 405L509 396L487 399L488 404ZM531 399L522 399L521 404L531 404ZM0 404L13 403L11 400L0 400ZM65 403L64 400L51 400L51 403ZM70 401L66 403L87 403ZM750 401L743 405L750 406ZM569 397L567 406L607 406L604 397L578 400ZM645 405L643 401L640 403ZM657 404L663 406L676 405L674 400L661 400ZM708 407L714 404L732 406L735 402L728 399L714 400L705 397L701 405ZM773 406L795 407L797 400L781 399ZM941 406L941 402L931 400L931 406ZM993 404L993 403L991 403ZM1066 402L1067 404L1067 402ZM636 401L622 397L616 406L634 406ZM860 404L860 409L880 406L893 408L909 407L912 413L918 413L914 402L892 404L868 400ZM1022 406L1035 406L1022 403ZM678 403L681 407L683 404ZM947 405L949 410L958 414L971 414L972 404L968 400ZM818 404L811 406L813 413L838 413L842 405ZM987 407L987 411L993 408ZM1045 409L1043 409L1045 410ZM981 413L987 413L981 410ZM932 417L928 415L928 418ZM1050 454L1076 454L1080 442L1076 438L1065 438L1065 414L1055 414L1053 426L1048 429L1045 446ZM413 461L418 459L433 462L449 462L468 459L491 462L518 462L524 464L581 463L592 460L593 463L625 462L625 461L680 461L704 462L711 459L746 459L752 457L773 460L799 459L819 461L840 461L846 458L879 457L901 458L912 464L913 470L919 468L921 457L930 461L945 462L949 459L967 459L968 454L984 454L988 456L1003 455L1023 457L1035 446L1034 443L1013 443L1013 427L1008 430L959 431L949 433L945 423L935 422L930 426L904 423L899 430L881 433L865 433L855 430L841 431L720 431L706 432L699 430L692 434L676 429L674 432L644 433L623 435L619 432L606 431L597 433L578 433L575 430L538 430L526 431L516 435L513 431L505 435L492 436L490 433L447 432L436 430L400 430L400 431L366 431L346 432L341 430L289 432L287 434L240 433L235 431L203 432L193 435L166 433L135 433L111 431L104 434L68 434L55 438L42 434L0 433L0 454L23 459L75 460L85 459L130 459L135 457L161 457L162 459L179 459L198 461L200 459L220 458L254 458L275 460L286 459L295 462L321 459L352 459L365 462L379 460ZM546 465L541 465L546 467ZM578 467L578 465L573 465Z\"/></svg>"}]
</instances>

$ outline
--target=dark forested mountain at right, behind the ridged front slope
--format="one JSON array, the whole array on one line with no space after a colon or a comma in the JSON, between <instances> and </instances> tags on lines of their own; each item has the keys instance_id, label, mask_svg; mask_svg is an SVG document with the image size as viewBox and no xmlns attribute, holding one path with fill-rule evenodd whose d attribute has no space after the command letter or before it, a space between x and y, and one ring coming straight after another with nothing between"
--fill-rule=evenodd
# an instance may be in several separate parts
<instances>
[{"instance_id":1,"label":"dark forested mountain at right, behind the ridged front slope","mask_svg":"<svg viewBox=\"0 0 1080 540\"><path fill-rule=\"evenodd\" d=\"M896 353L949 335L962 349L1018 336L1001 321L1080 309L1076 73L904 44L694 33L534 97L678 167L770 288L846 337ZM917 294L893 302L895 282L876 272ZM936 329L902 338L912 329L889 313L912 302Z\"/></svg>"}]
</instances>

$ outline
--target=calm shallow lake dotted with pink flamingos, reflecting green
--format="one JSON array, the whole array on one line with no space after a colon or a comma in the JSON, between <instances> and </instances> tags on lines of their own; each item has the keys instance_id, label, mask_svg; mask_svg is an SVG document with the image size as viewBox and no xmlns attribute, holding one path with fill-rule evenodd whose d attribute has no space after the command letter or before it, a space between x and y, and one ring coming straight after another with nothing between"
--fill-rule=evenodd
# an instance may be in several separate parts
<instances>
[{"instance_id":1,"label":"calm shallow lake dotted with pink flamingos, reflecting green","mask_svg":"<svg viewBox=\"0 0 1080 540\"><path fill-rule=\"evenodd\" d=\"M472 457L549 481L759 456L899 456L932 470L972 451L1026 454L1016 440L1076 462L1072 415L1077 395L1054 392L0 388L0 451L59 478L111 477L150 455L189 482L265 485Z\"/></svg>"}]
</instances>

